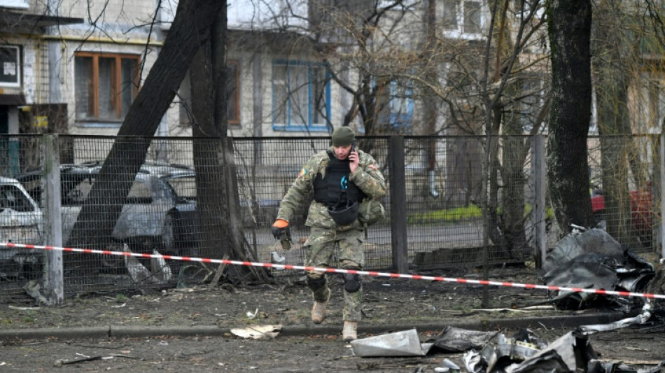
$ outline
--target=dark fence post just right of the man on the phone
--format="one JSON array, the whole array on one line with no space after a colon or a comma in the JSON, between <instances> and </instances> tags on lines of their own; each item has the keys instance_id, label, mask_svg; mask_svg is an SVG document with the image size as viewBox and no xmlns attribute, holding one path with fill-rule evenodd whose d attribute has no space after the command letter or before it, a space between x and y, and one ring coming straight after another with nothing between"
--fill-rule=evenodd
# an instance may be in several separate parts
<instances>
[{"instance_id":1,"label":"dark fence post just right of the man on the phone","mask_svg":"<svg viewBox=\"0 0 665 373\"><path fill-rule=\"evenodd\" d=\"M393 269L399 273L409 270L407 246L407 189L404 162L404 137L391 136L390 155L390 226L393 248Z\"/></svg>"}]
</instances>

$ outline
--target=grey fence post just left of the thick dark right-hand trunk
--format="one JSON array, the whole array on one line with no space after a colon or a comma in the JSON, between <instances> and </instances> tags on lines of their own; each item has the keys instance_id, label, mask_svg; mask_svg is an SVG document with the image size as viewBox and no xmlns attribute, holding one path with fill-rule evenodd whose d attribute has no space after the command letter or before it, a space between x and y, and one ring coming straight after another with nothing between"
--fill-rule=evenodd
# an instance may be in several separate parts
<instances>
[{"instance_id":1,"label":"grey fence post just left of the thick dark right-hand trunk","mask_svg":"<svg viewBox=\"0 0 665 373\"><path fill-rule=\"evenodd\" d=\"M545 136L538 134L532 137L531 159L533 160L533 220L535 221L535 258L539 258L538 266L542 268L547 255L547 229L545 212Z\"/></svg>"}]
</instances>

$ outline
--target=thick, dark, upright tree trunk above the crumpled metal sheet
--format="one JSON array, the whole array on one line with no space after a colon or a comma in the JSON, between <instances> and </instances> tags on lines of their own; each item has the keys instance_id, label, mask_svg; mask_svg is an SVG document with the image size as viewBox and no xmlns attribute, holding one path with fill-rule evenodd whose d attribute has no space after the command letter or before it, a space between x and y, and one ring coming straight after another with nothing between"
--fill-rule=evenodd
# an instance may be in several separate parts
<instances>
[{"instance_id":1,"label":"thick, dark, upright tree trunk above the crumpled metal sheet","mask_svg":"<svg viewBox=\"0 0 665 373\"><path fill-rule=\"evenodd\" d=\"M552 46L547 176L556 223L594 222L589 199L587 135L591 119L591 1L548 2Z\"/></svg>"}]
</instances>

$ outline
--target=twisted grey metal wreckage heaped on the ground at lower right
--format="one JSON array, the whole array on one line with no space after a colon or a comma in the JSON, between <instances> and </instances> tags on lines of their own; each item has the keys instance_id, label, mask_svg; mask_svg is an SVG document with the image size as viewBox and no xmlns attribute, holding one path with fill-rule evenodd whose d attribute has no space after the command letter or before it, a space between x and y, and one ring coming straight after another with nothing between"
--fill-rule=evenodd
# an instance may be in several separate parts
<instances>
[{"instance_id":1,"label":"twisted grey metal wreckage heaped on the ground at lower right","mask_svg":"<svg viewBox=\"0 0 665 373\"><path fill-rule=\"evenodd\" d=\"M604 230L575 231L549 251L540 279L547 285L641 293L664 293L662 269L622 246ZM541 302L540 304L542 304ZM599 360L588 336L631 325L664 324L664 310L642 297L619 297L596 293L558 292L545 303L559 309L610 308L627 318L614 323L582 325L547 344L530 330L521 329L512 337L500 332L482 332L447 327L441 334L420 342L415 329L378 335L351 342L360 357L426 356L431 351L463 353L470 373L655 373L665 360L653 367L633 369L616 360ZM459 373L460 367L444 359L437 372Z\"/></svg>"}]
</instances>

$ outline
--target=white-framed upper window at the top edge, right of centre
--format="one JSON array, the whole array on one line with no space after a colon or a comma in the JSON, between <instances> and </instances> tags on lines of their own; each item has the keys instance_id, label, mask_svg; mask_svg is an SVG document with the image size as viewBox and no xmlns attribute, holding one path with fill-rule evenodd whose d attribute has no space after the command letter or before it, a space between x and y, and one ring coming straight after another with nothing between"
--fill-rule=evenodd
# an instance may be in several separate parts
<instances>
[{"instance_id":1,"label":"white-framed upper window at the top edge, right of centre","mask_svg":"<svg viewBox=\"0 0 665 373\"><path fill-rule=\"evenodd\" d=\"M444 0L442 24L446 36L482 35L484 27L482 1Z\"/></svg>"}]
</instances>

